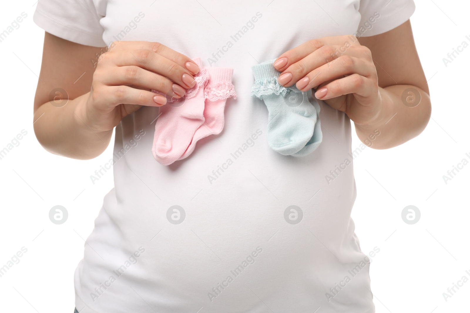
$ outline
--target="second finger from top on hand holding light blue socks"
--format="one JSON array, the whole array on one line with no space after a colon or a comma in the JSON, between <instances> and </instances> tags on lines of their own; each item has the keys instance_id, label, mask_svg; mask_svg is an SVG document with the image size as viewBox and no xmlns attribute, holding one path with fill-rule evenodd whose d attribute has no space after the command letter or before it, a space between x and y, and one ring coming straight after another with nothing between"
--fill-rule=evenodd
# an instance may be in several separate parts
<instances>
[{"instance_id":1,"label":"second finger from top on hand holding light blue socks","mask_svg":"<svg viewBox=\"0 0 470 313\"><path fill-rule=\"evenodd\" d=\"M337 51L341 46L323 46L315 50L313 53L305 56L298 62L291 64L279 75L278 82L283 86L290 86L298 82L299 79L305 77L307 73L319 68L329 62L336 62L342 56L353 56L356 58L367 58L372 62L372 58L368 55L370 50L364 46L350 47L344 53L339 54ZM371 63L372 64L372 63Z\"/></svg>"}]
</instances>

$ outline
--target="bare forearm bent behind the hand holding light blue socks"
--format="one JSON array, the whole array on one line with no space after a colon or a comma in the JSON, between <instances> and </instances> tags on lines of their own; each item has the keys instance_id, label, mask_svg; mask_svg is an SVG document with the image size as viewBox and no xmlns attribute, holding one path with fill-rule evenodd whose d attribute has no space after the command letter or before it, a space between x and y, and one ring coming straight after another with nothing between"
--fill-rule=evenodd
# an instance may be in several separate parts
<instances>
[{"instance_id":1,"label":"bare forearm bent behind the hand holding light blue socks","mask_svg":"<svg viewBox=\"0 0 470 313\"><path fill-rule=\"evenodd\" d=\"M402 102L402 94L408 88L419 92L421 101L415 107ZM380 88L382 109L377 122L372 124L354 123L356 134L365 143L369 136L374 136L376 130L380 135L374 138L375 149L388 149L401 145L418 136L431 118L431 99L422 89L412 85L393 85ZM405 102L406 103L406 102Z\"/></svg>"}]
</instances>

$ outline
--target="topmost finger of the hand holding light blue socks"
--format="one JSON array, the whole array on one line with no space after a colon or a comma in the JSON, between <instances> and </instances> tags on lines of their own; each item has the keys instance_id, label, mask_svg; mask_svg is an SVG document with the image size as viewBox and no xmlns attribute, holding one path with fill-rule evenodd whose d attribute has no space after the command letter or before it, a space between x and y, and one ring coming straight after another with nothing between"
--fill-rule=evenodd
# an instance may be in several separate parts
<instances>
[{"instance_id":1,"label":"topmost finger of the hand holding light blue socks","mask_svg":"<svg viewBox=\"0 0 470 313\"><path fill-rule=\"evenodd\" d=\"M353 46L360 45L357 38L354 36L332 36L323 37L320 39L309 40L300 46L297 46L289 51L282 53L276 61L274 61L274 68L282 72L290 65L302 60L310 53L320 49L323 46Z\"/></svg>"}]
</instances>

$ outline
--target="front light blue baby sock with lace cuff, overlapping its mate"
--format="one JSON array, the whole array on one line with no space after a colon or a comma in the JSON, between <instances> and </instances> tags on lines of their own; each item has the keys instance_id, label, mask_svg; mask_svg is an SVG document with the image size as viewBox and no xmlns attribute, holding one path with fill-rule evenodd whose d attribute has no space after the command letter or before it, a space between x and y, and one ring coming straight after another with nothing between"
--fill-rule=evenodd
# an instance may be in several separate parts
<instances>
[{"instance_id":1,"label":"front light blue baby sock with lace cuff, overlapping its mate","mask_svg":"<svg viewBox=\"0 0 470 313\"><path fill-rule=\"evenodd\" d=\"M251 95L262 99L268 109L269 146L283 155L303 156L314 150L300 152L311 141L317 121L317 110L308 99L312 92L301 92L295 85L281 86L277 82L280 72L273 63L274 60L252 67L255 84Z\"/></svg>"}]
</instances>

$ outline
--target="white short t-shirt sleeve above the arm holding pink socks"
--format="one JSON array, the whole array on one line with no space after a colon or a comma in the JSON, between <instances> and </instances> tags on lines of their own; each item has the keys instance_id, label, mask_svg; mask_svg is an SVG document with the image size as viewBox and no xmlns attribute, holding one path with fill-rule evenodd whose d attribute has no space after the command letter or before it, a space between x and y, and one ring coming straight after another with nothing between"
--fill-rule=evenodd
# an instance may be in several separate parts
<instances>
[{"instance_id":1,"label":"white short t-shirt sleeve above the arm holding pink socks","mask_svg":"<svg viewBox=\"0 0 470 313\"><path fill-rule=\"evenodd\" d=\"M107 45L100 24L103 17L93 0L40 0L33 21L57 37L81 45L104 47Z\"/></svg>"}]
</instances>

